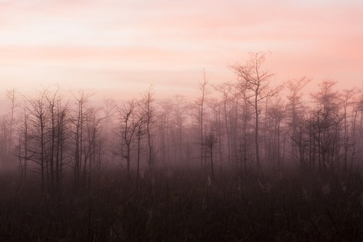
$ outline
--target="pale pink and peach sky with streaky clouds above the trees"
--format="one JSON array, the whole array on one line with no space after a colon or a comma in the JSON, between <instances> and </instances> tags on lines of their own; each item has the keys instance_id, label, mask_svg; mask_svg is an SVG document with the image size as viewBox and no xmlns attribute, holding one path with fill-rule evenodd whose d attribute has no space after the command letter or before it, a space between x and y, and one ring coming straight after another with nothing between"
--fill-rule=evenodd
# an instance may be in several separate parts
<instances>
[{"instance_id":1,"label":"pale pink and peach sky with streaky clouds above the trees","mask_svg":"<svg viewBox=\"0 0 363 242\"><path fill-rule=\"evenodd\" d=\"M273 82L363 84L360 0L0 0L0 95L47 86L98 98L198 95L267 52ZM314 86L315 85L315 86ZM1 90L3 89L3 90Z\"/></svg>"}]
</instances>

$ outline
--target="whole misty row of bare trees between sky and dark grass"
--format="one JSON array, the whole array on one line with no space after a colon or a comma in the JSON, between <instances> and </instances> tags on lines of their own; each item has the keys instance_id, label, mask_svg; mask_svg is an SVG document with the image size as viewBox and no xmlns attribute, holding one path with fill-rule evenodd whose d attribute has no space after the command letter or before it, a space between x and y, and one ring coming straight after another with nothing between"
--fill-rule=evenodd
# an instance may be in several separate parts
<instances>
[{"instance_id":1,"label":"whole misty row of bare trees between sky and dark grass","mask_svg":"<svg viewBox=\"0 0 363 242\"><path fill-rule=\"evenodd\" d=\"M106 167L119 167L139 181L145 169L193 167L212 180L230 166L241 174L353 172L363 158L362 89L336 90L323 80L310 100L302 77L276 84L252 53L230 66L235 80L208 83L193 100L156 100L151 86L138 98L98 107L92 95L42 89L36 97L7 91L10 108L1 116L2 166L17 167L22 179L36 172L43 191L56 192L71 177L90 186ZM171 168L170 168L171 169Z\"/></svg>"}]
</instances>

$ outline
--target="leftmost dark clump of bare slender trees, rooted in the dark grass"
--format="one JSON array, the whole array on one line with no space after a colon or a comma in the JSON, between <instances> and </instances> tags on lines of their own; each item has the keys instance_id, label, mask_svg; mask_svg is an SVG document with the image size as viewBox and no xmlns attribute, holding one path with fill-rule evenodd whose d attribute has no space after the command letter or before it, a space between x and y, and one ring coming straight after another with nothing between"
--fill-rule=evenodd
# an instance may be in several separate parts
<instances>
[{"instance_id":1,"label":"leftmost dark clump of bare slender trees, rooted in the dark grass","mask_svg":"<svg viewBox=\"0 0 363 242\"><path fill-rule=\"evenodd\" d=\"M17 157L20 174L27 175L28 162L39 166L42 190L54 195L63 177L70 132L68 103L59 89L39 91L38 98L24 97L24 113L17 126Z\"/></svg>"}]
</instances>

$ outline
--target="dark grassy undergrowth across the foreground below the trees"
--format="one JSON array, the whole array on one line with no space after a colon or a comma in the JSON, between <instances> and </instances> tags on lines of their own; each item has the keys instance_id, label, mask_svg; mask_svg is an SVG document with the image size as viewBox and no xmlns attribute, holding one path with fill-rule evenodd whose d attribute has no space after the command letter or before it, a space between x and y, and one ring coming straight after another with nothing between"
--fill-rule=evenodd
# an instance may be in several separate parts
<instances>
[{"instance_id":1,"label":"dark grassy undergrowth across the foreground below the trees","mask_svg":"<svg viewBox=\"0 0 363 242\"><path fill-rule=\"evenodd\" d=\"M360 176L105 172L41 192L0 178L0 241L363 241Z\"/></svg>"}]
</instances>

